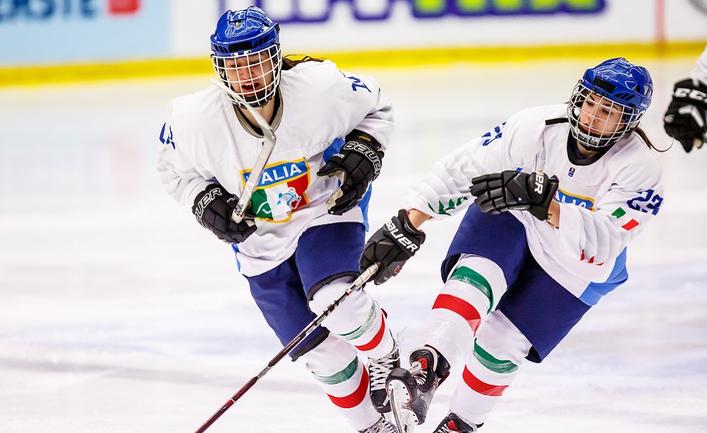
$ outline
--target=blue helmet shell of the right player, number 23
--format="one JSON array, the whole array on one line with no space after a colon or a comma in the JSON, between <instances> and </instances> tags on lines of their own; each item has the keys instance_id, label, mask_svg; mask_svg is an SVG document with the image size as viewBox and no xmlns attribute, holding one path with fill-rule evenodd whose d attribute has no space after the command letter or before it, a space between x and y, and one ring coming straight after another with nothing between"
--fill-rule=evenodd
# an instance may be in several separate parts
<instances>
[{"instance_id":1,"label":"blue helmet shell of the right player, number 23","mask_svg":"<svg viewBox=\"0 0 707 433\"><path fill-rule=\"evenodd\" d=\"M586 88L621 105L643 111L653 97L653 80L648 70L617 57L587 69L582 78Z\"/></svg>"}]
</instances>

